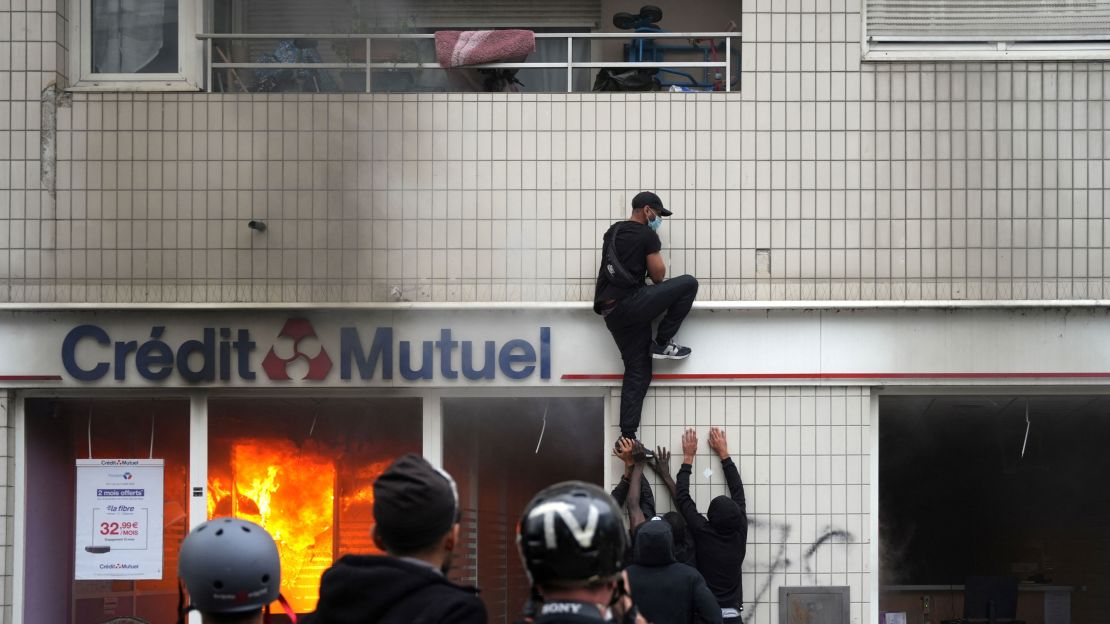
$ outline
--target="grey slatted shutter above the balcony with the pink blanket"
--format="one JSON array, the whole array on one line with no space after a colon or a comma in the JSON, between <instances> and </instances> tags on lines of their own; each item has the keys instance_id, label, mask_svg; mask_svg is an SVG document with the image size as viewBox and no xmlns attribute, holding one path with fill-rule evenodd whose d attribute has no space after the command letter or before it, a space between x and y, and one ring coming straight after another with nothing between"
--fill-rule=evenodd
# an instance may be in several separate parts
<instances>
[{"instance_id":1,"label":"grey slatted shutter above the balcony with the pink blanket","mask_svg":"<svg viewBox=\"0 0 1110 624\"><path fill-rule=\"evenodd\" d=\"M371 32L431 28L598 27L601 0L250 0L246 32Z\"/></svg>"}]
</instances>

